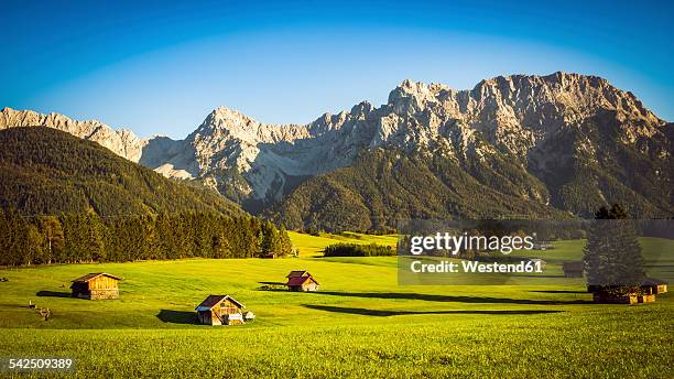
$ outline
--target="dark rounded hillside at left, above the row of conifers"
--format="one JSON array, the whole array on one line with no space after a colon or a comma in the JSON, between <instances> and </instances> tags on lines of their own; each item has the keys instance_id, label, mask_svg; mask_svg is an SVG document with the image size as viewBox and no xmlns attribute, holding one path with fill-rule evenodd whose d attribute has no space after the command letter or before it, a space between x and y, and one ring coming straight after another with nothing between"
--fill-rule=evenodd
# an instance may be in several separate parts
<instances>
[{"instance_id":1,"label":"dark rounded hillside at left, above the row of conifers","mask_svg":"<svg viewBox=\"0 0 674 379\"><path fill-rule=\"evenodd\" d=\"M30 127L0 131L0 207L26 215L243 213L215 192L165 178L98 143Z\"/></svg>"}]
</instances>

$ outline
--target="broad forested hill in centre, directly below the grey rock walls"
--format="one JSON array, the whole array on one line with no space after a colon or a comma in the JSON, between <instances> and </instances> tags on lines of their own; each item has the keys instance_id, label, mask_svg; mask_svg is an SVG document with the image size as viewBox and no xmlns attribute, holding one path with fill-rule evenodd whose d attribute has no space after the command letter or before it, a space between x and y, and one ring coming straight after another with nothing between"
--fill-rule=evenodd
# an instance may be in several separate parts
<instances>
[{"instance_id":1,"label":"broad forested hill in centre, directly below the grey rock walls","mask_svg":"<svg viewBox=\"0 0 674 379\"><path fill-rule=\"evenodd\" d=\"M506 160L459 164L438 154L374 150L304 182L272 215L292 229L330 231L390 231L410 218L570 217L535 198L545 191Z\"/></svg>"}]
</instances>

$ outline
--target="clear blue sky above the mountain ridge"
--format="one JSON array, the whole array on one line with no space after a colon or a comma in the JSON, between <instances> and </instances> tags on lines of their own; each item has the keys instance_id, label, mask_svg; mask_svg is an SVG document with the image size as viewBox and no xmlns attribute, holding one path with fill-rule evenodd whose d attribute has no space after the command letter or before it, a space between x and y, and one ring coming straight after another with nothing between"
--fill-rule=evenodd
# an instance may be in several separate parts
<instances>
[{"instance_id":1,"label":"clear blue sky above the mountain ridge","mask_svg":"<svg viewBox=\"0 0 674 379\"><path fill-rule=\"evenodd\" d=\"M138 1L141 3L141 1ZM674 2L7 1L0 108L184 138L217 106L304 123L404 78L600 75L674 120Z\"/></svg>"}]
</instances>

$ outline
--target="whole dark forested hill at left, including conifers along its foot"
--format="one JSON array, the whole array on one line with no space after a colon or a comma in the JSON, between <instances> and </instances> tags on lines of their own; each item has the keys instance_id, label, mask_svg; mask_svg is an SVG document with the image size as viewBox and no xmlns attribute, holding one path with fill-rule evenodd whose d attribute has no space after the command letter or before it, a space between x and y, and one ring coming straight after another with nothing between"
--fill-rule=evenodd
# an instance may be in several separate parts
<instances>
[{"instance_id":1,"label":"whole dark forested hill at left, including conifers along its foot","mask_svg":"<svg viewBox=\"0 0 674 379\"><path fill-rule=\"evenodd\" d=\"M292 249L284 228L48 128L0 132L0 266L248 258Z\"/></svg>"}]
</instances>

